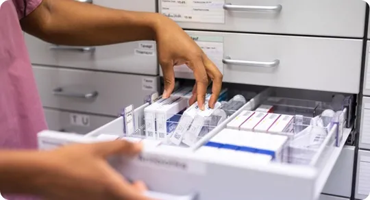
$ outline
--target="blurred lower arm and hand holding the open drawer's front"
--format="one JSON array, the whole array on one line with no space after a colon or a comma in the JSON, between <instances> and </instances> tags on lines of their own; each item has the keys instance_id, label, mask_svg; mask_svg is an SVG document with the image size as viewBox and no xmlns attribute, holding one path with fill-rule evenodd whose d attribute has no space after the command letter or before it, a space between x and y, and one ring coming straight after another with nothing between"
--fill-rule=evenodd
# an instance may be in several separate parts
<instances>
[{"instance_id":1,"label":"blurred lower arm and hand holding the open drawer's front","mask_svg":"<svg viewBox=\"0 0 370 200\"><path fill-rule=\"evenodd\" d=\"M106 162L111 155L140 151L141 145L124 140L53 151L0 150L0 192L53 200L147 200L143 183L129 184Z\"/></svg>"}]
</instances>

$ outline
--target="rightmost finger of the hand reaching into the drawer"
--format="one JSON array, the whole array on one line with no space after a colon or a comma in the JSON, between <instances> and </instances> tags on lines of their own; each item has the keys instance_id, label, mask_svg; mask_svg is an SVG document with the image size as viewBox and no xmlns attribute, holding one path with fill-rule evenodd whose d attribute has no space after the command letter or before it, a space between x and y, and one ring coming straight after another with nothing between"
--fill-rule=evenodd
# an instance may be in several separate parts
<instances>
[{"instance_id":1,"label":"rightmost finger of the hand reaching into the drawer","mask_svg":"<svg viewBox=\"0 0 370 200\"><path fill-rule=\"evenodd\" d=\"M217 66L209 60L206 55L204 57L204 65L206 66L208 75L212 79L212 95L208 104L210 105L210 108L214 108L221 92L223 75L219 71L219 68L217 68Z\"/></svg>"}]
</instances>

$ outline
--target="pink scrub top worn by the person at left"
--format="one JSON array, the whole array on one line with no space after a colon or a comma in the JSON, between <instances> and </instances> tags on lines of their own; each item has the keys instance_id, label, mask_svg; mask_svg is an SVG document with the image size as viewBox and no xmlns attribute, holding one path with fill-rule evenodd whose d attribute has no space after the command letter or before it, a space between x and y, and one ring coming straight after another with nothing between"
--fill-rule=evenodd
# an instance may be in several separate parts
<instances>
[{"instance_id":1,"label":"pink scrub top worn by the person at left","mask_svg":"<svg viewBox=\"0 0 370 200\"><path fill-rule=\"evenodd\" d=\"M26 0L26 12L23 0L0 5L0 149L36 149L37 133L47 129L19 23L41 1Z\"/></svg>"}]
</instances>

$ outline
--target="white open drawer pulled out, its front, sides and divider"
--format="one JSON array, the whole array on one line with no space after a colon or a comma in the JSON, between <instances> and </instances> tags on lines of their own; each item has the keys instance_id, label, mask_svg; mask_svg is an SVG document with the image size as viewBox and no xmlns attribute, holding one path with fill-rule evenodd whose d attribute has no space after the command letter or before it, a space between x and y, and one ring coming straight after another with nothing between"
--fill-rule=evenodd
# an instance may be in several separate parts
<instances>
[{"instance_id":1,"label":"white open drawer pulled out, its front, sides and divider","mask_svg":"<svg viewBox=\"0 0 370 200\"><path fill-rule=\"evenodd\" d=\"M267 89L245 103L224 121L213 127L208 134L199 138L192 147L177 147L158 144L157 140L142 140L144 150L138 158L112 158L110 163L127 179L143 180L150 190L161 194L179 195L170 199L285 199L285 200L316 200L343 149L351 128L345 123L332 125L328 128L328 137L320 145L319 150L305 164L288 162L254 162L240 160L235 157L219 155L204 156L197 153L199 147L210 138L219 134L227 123L238 116L243 110L254 110L269 97L275 97L273 90ZM40 149L51 149L69 142L97 142L116 139L116 136L127 138L125 130L130 123L130 115L134 116L136 137L140 140L145 129L144 109L149 103L136 108L133 112L125 112L123 116L99 127L85 136L59 132L41 132L38 135ZM347 108L344 108L344 113ZM127 115L129 114L130 115ZM132 115L133 114L133 115ZM347 119L347 117L345 117ZM127 123L128 122L128 123ZM131 121L132 122L132 121ZM339 127L339 126L341 127ZM336 144L335 135L343 128L343 139ZM112 135L113 138L100 137ZM132 135L133 136L133 135ZM267 192L268 191L268 192ZM166 199L160 198L160 199Z\"/></svg>"}]
</instances>

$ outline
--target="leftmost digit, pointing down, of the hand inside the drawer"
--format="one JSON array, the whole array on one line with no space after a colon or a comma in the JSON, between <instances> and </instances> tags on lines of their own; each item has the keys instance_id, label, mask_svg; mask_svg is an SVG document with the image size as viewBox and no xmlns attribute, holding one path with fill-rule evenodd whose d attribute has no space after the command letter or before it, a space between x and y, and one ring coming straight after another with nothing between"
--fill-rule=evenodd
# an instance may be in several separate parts
<instances>
[{"instance_id":1,"label":"leftmost digit, pointing down, of the hand inside the drawer","mask_svg":"<svg viewBox=\"0 0 370 200\"><path fill-rule=\"evenodd\" d=\"M160 64L164 79L163 98L167 99L175 88L175 72L173 71L173 62L164 62Z\"/></svg>"}]
</instances>

